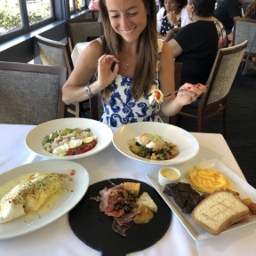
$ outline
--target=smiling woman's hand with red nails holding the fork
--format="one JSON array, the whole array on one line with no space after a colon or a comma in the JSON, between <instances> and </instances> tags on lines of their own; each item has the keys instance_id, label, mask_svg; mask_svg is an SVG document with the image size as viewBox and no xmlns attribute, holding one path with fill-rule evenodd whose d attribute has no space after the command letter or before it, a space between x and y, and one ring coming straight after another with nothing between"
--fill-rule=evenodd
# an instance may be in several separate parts
<instances>
[{"instance_id":1,"label":"smiling woman's hand with red nails holding the fork","mask_svg":"<svg viewBox=\"0 0 256 256\"><path fill-rule=\"evenodd\" d=\"M198 97L202 96L202 93L206 92L204 84L183 84L180 89L186 89L188 91L178 92L176 101L179 105L185 106L196 101Z\"/></svg>"}]
</instances>

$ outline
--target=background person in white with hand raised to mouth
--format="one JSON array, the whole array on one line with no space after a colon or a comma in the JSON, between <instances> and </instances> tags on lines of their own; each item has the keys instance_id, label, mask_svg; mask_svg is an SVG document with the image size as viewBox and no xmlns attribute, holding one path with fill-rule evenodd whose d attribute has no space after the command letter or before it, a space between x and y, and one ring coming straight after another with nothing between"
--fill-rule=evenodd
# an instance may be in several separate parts
<instances>
[{"instance_id":1,"label":"background person in white with hand raised to mouth","mask_svg":"<svg viewBox=\"0 0 256 256\"><path fill-rule=\"evenodd\" d=\"M172 28L180 28L188 23L186 11L187 0L160 0L160 10L157 12L157 38L165 39Z\"/></svg>"}]
</instances>

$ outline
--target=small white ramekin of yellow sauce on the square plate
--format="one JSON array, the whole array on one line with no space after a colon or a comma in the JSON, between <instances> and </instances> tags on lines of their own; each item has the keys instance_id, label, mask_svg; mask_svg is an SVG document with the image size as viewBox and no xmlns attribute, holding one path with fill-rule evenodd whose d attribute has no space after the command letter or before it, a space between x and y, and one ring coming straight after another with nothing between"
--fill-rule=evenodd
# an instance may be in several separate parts
<instances>
[{"instance_id":1,"label":"small white ramekin of yellow sauce on the square plate","mask_svg":"<svg viewBox=\"0 0 256 256\"><path fill-rule=\"evenodd\" d=\"M158 172L158 183L165 187L166 184L178 183L180 181L180 171L172 166L164 166Z\"/></svg>"}]
</instances>

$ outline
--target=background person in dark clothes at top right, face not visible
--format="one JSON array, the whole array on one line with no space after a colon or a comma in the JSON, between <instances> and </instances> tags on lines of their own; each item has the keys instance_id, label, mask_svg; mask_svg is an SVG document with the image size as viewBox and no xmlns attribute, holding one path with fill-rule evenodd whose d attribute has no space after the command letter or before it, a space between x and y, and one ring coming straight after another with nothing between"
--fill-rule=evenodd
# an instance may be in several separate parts
<instances>
[{"instance_id":1,"label":"background person in dark clothes at top right, face not visible","mask_svg":"<svg viewBox=\"0 0 256 256\"><path fill-rule=\"evenodd\" d=\"M242 4L246 0L224 0L216 8L214 17L224 25L228 34L229 45L233 41L234 18L242 17Z\"/></svg>"}]
</instances>

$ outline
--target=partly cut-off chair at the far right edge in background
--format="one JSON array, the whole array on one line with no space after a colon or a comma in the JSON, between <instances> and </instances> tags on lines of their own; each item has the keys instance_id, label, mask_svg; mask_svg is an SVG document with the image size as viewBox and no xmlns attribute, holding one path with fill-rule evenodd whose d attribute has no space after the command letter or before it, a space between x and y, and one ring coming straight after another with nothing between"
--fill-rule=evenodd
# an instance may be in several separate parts
<instances>
[{"instance_id":1,"label":"partly cut-off chair at the far right edge in background","mask_svg":"<svg viewBox=\"0 0 256 256\"><path fill-rule=\"evenodd\" d=\"M234 18L234 33L233 33L233 45L241 44L245 40L248 40L247 47L244 52L244 57L242 59L241 70L243 71L244 63L246 57L249 54L250 57L256 57L256 43L253 37L256 33L256 20L245 19L236 17ZM251 50L251 51L250 51Z\"/></svg>"}]
</instances>

